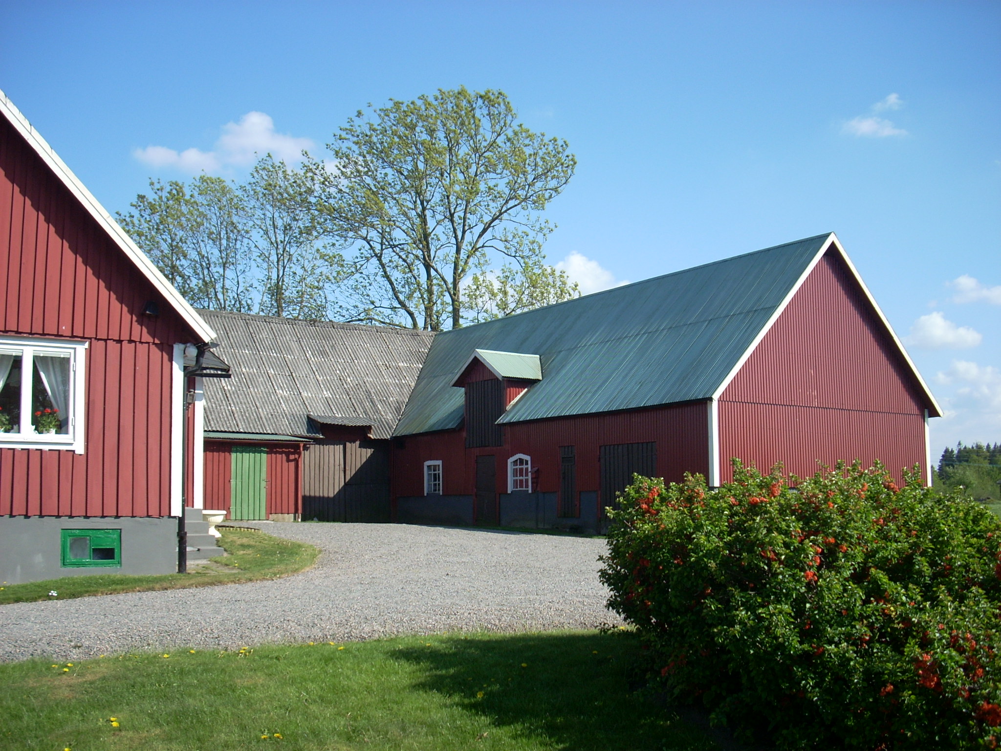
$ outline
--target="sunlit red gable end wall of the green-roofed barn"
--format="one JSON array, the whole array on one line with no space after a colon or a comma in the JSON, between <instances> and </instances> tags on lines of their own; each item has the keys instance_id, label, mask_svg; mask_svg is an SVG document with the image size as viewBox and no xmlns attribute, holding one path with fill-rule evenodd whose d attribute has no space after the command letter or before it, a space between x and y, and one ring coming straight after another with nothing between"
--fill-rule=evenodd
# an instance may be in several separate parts
<instances>
[{"instance_id":1,"label":"sunlit red gable end wall of the green-roofed barn","mask_svg":"<svg viewBox=\"0 0 1001 751\"><path fill-rule=\"evenodd\" d=\"M812 475L879 459L927 469L919 386L844 261L817 264L720 400L720 459Z\"/></svg>"}]
</instances>

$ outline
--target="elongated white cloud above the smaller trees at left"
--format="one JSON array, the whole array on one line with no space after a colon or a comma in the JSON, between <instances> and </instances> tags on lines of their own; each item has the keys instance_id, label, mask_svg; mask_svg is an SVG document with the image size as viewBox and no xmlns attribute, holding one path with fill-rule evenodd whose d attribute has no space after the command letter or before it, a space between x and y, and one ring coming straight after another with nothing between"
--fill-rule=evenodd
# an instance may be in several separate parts
<instances>
[{"instance_id":1,"label":"elongated white cloud above the smaller trees at left","mask_svg":"<svg viewBox=\"0 0 1001 751\"><path fill-rule=\"evenodd\" d=\"M303 149L311 148L309 138L276 133L274 120L263 112L247 112L239 122L222 126L222 134L212 151L188 148L176 151L166 146L137 148L132 155L153 167L172 167L181 172L218 172L225 167L244 167L258 156L272 154L276 159L298 161Z\"/></svg>"}]
</instances>

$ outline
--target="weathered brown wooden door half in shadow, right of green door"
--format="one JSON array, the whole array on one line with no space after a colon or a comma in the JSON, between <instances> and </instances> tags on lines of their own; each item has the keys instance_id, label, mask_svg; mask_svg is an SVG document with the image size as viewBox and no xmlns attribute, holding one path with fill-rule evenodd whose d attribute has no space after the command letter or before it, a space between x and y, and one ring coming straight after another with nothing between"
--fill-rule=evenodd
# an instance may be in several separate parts
<instances>
[{"instance_id":1,"label":"weathered brown wooden door half in shadow, right of green door","mask_svg":"<svg viewBox=\"0 0 1001 751\"><path fill-rule=\"evenodd\" d=\"M302 519L388 522L388 442L307 444L302 456Z\"/></svg>"}]
</instances>

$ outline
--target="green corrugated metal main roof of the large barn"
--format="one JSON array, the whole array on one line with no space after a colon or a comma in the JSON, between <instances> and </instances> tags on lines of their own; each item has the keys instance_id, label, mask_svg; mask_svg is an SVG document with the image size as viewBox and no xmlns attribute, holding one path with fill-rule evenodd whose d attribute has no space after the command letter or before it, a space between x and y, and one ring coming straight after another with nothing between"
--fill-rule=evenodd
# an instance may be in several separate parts
<instances>
[{"instance_id":1,"label":"green corrugated metal main roof of the large barn","mask_svg":"<svg viewBox=\"0 0 1001 751\"><path fill-rule=\"evenodd\" d=\"M499 423L708 400L830 236L439 333L395 435L459 425L451 384L477 348L541 356L545 378Z\"/></svg>"}]
</instances>

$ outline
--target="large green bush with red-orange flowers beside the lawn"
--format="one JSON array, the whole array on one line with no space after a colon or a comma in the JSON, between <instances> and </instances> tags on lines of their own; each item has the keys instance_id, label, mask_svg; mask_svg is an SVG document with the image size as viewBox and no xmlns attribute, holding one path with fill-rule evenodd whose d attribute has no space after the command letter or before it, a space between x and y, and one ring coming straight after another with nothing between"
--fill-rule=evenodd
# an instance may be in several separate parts
<instances>
[{"instance_id":1,"label":"large green bush with red-orange flowers beside the lawn","mask_svg":"<svg viewBox=\"0 0 1001 751\"><path fill-rule=\"evenodd\" d=\"M996 748L1001 522L916 471L734 469L637 476L612 512L602 581L651 678L780 748Z\"/></svg>"}]
</instances>

